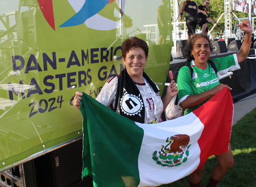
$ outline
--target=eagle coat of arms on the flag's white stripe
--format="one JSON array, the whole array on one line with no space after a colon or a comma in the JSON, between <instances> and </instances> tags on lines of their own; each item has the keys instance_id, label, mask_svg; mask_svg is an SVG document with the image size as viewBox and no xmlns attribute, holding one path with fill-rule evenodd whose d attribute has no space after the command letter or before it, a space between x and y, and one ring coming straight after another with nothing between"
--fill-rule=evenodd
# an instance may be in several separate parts
<instances>
[{"instance_id":1,"label":"eagle coat of arms on the flag's white stripe","mask_svg":"<svg viewBox=\"0 0 256 187\"><path fill-rule=\"evenodd\" d=\"M189 136L177 134L166 138L166 145L162 145L161 151L154 151L152 159L160 166L175 167L187 161L189 155Z\"/></svg>"}]
</instances>

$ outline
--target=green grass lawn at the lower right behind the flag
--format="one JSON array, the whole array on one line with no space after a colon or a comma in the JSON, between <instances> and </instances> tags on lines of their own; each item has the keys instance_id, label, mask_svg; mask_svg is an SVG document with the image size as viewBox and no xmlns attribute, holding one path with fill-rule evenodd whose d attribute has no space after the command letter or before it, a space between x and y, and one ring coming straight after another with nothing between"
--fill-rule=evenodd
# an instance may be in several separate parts
<instances>
[{"instance_id":1,"label":"green grass lawn at the lower right behind the flag","mask_svg":"<svg viewBox=\"0 0 256 187\"><path fill-rule=\"evenodd\" d=\"M232 127L230 139L234 166L219 182L218 187L256 186L256 108ZM206 186L217 163L215 156L207 159L201 186ZM161 187L187 187L188 176Z\"/></svg>"}]
</instances>

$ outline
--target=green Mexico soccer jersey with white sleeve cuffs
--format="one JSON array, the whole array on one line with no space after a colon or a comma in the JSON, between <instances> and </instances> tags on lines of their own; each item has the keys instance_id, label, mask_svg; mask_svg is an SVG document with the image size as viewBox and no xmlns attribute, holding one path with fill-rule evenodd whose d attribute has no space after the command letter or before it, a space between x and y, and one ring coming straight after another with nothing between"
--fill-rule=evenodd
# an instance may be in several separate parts
<instances>
[{"instance_id":1,"label":"green Mexico soccer jersey with white sleeve cuffs","mask_svg":"<svg viewBox=\"0 0 256 187\"><path fill-rule=\"evenodd\" d=\"M218 77L226 74L229 71L240 69L236 54L227 57L211 59L211 61L216 65L217 75L209 63L207 63L206 68L202 69L197 67L194 61L190 62L190 65L193 68L192 78L189 67L183 66L180 68L177 79L179 103L184 101L187 96L198 95L204 91L214 88L220 84ZM199 108L208 100L195 107L185 109L184 115Z\"/></svg>"}]
</instances>

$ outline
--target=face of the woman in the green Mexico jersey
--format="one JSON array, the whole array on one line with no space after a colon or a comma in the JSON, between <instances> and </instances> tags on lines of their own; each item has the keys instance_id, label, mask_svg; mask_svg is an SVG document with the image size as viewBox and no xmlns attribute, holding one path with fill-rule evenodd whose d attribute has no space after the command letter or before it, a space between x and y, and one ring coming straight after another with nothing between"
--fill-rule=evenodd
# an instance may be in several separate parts
<instances>
[{"instance_id":1,"label":"face of the woman in the green Mexico jersey","mask_svg":"<svg viewBox=\"0 0 256 187\"><path fill-rule=\"evenodd\" d=\"M195 58L195 64L200 68L207 66L207 60L210 56L210 44L206 38L198 38L195 41L191 55Z\"/></svg>"}]
</instances>

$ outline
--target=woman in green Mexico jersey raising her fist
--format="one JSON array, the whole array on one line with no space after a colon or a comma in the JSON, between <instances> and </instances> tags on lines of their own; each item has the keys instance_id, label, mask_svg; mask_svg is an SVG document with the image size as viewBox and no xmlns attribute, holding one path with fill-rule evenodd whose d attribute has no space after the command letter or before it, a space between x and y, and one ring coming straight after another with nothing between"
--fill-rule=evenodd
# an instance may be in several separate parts
<instances>
[{"instance_id":1,"label":"woman in green Mexico jersey raising her fist","mask_svg":"<svg viewBox=\"0 0 256 187\"><path fill-rule=\"evenodd\" d=\"M217 73L207 63L210 55L211 44L209 38L205 34L195 34L187 44L187 63L190 63L193 69L191 77L190 69L184 66L180 69L177 86L179 104L184 114L187 114L208 101L218 91L229 86L221 84L218 77L226 74L228 71L240 69L239 63L244 61L250 51L252 27L249 20L244 20L241 25L238 25L242 31L246 33L241 49L237 54L233 54L223 58L212 59ZM221 155L216 155L218 160L214 167L211 178L207 184L208 187L217 186L218 182L233 167L234 161L229 143L229 150ZM205 170L204 165L194 173L189 175L190 186L200 186L202 174Z\"/></svg>"}]
</instances>

